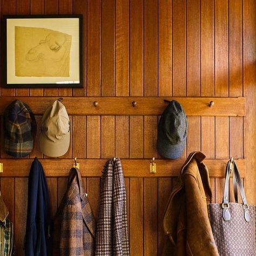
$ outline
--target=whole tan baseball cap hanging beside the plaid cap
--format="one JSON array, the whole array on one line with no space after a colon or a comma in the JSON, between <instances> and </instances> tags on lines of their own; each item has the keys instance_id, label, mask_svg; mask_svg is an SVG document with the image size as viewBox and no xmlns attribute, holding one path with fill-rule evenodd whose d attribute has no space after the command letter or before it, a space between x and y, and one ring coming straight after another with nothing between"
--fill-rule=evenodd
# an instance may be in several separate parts
<instances>
[{"instance_id":1,"label":"whole tan baseball cap hanging beside the plaid cap","mask_svg":"<svg viewBox=\"0 0 256 256\"><path fill-rule=\"evenodd\" d=\"M55 100L43 114L39 145L49 157L63 156L70 144L70 120L65 106Z\"/></svg>"}]
</instances>

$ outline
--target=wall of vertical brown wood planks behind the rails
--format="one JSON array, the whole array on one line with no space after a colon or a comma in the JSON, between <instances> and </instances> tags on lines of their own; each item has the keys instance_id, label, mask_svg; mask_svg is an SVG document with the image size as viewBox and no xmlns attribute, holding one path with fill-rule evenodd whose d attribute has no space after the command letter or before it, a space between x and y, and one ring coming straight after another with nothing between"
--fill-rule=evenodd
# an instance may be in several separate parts
<instances>
[{"instance_id":1,"label":"wall of vertical brown wood planks behind the rails","mask_svg":"<svg viewBox=\"0 0 256 256\"><path fill-rule=\"evenodd\" d=\"M1 88L1 96L246 96L246 117L188 116L182 158L194 150L203 151L208 159L247 158L244 183L249 201L256 203L254 0L0 2L2 15L84 16L83 89ZM38 133L41 118L36 116ZM156 150L159 116L74 115L70 119L70 149L61 158L160 158ZM47 158L39 150L38 135L29 158L35 156ZM9 158L3 147L1 158ZM8 166L4 169L8 171ZM97 218L99 178L85 176L83 180ZM66 181L66 177L48 177L52 214ZM131 255L160 255L164 243L161 220L175 182L171 177L125 178ZM212 201L219 202L224 179L212 177L211 183ZM1 193L15 224L16 255L23 255L27 192L28 177L1 178Z\"/></svg>"}]
</instances>

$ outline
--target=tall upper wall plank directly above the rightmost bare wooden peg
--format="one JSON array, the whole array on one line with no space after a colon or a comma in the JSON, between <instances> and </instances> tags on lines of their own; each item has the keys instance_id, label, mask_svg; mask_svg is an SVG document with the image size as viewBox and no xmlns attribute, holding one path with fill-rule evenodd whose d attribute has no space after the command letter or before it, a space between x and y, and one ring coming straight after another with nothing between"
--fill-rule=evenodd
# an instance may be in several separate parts
<instances>
[{"instance_id":1,"label":"tall upper wall plank directly above the rightmost bare wooden peg","mask_svg":"<svg viewBox=\"0 0 256 256\"><path fill-rule=\"evenodd\" d=\"M201 96L214 93L214 0L201 0Z\"/></svg>"}]
</instances>

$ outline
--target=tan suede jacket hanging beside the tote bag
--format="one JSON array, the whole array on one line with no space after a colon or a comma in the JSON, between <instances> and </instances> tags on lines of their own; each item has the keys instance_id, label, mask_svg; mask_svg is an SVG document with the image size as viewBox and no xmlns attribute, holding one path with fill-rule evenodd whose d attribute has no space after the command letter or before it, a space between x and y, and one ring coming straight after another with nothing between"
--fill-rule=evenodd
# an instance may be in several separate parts
<instances>
[{"instance_id":1,"label":"tan suede jacket hanging beside the tote bag","mask_svg":"<svg viewBox=\"0 0 256 256\"><path fill-rule=\"evenodd\" d=\"M173 187L163 221L169 238L163 255L219 256L207 214L212 193L204 159L203 153L192 152Z\"/></svg>"}]
</instances>

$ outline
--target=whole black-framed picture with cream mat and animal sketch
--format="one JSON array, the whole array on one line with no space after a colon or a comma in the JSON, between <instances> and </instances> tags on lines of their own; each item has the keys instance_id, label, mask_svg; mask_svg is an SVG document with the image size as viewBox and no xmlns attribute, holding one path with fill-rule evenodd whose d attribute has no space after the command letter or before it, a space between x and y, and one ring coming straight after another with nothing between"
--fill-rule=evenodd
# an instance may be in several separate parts
<instances>
[{"instance_id":1,"label":"whole black-framed picture with cream mat and animal sketch","mask_svg":"<svg viewBox=\"0 0 256 256\"><path fill-rule=\"evenodd\" d=\"M82 23L82 15L3 16L3 87L83 87Z\"/></svg>"}]
</instances>

